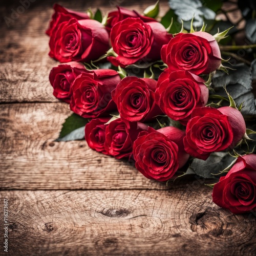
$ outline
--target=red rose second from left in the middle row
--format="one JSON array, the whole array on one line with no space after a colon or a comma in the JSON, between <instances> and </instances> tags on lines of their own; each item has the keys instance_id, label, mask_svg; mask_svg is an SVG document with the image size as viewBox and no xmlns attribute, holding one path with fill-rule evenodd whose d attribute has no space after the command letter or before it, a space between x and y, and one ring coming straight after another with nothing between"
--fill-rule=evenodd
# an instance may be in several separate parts
<instances>
[{"instance_id":1,"label":"red rose second from left in the middle row","mask_svg":"<svg viewBox=\"0 0 256 256\"><path fill-rule=\"evenodd\" d=\"M98 117L116 110L111 92L121 78L115 70L85 70L71 87L70 109L82 117Z\"/></svg>"}]
</instances>

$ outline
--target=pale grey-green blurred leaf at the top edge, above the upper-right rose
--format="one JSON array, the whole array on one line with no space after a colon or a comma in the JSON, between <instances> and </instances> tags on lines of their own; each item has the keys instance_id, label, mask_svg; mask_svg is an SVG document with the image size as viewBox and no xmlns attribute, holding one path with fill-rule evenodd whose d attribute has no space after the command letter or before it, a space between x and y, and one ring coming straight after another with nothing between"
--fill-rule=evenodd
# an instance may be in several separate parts
<instances>
[{"instance_id":1,"label":"pale grey-green blurred leaf at the top edge, above the upper-right rose","mask_svg":"<svg viewBox=\"0 0 256 256\"><path fill-rule=\"evenodd\" d=\"M203 26L204 17L215 19L216 13L207 7L203 7L199 0L169 0L169 6L184 22L184 28L190 29L190 21L194 17L193 26L199 28Z\"/></svg>"}]
</instances>

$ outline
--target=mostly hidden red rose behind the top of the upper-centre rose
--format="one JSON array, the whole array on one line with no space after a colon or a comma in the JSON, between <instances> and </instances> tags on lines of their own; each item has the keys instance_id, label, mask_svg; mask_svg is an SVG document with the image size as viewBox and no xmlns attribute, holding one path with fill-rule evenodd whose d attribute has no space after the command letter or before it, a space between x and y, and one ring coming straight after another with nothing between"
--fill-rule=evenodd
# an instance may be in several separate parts
<instances>
[{"instance_id":1,"label":"mostly hidden red rose behind the top of the upper-centre rose","mask_svg":"<svg viewBox=\"0 0 256 256\"><path fill-rule=\"evenodd\" d=\"M117 6L117 11L111 11L108 14L108 20L106 22L106 30L111 31L112 27L125 18L140 18L143 22L155 22L154 18L141 16L136 11L130 11L123 7Z\"/></svg>"}]
</instances>

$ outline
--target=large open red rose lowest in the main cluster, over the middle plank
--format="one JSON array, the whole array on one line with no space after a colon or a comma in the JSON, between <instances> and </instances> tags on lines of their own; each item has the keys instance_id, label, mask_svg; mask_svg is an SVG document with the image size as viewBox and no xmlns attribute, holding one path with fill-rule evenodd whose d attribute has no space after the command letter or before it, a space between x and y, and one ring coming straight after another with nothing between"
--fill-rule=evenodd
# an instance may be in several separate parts
<instances>
[{"instance_id":1,"label":"large open red rose lowest in the main cluster, over the middle plank","mask_svg":"<svg viewBox=\"0 0 256 256\"><path fill-rule=\"evenodd\" d=\"M189 157L184 151L184 136L185 132L173 126L141 132L133 145L136 168L148 179L170 179Z\"/></svg>"}]
</instances>

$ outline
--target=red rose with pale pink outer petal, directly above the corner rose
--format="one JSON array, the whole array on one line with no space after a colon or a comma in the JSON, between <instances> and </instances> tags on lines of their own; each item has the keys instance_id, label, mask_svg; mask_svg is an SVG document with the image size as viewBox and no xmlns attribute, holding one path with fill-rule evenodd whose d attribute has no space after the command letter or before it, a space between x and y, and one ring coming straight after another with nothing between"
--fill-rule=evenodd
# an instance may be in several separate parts
<instances>
[{"instance_id":1,"label":"red rose with pale pink outer petal, directly above the corner rose","mask_svg":"<svg viewBox=\"0 0 256 256\"><path fill-rule=\"evenodd\" d=\"M206 160L212 152L232 149L242 140L245 132L244 118L237 109L230 106L197 108L187 123L185 151Z\"/></svg>"}]
</instances>

